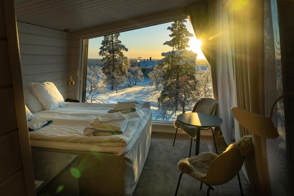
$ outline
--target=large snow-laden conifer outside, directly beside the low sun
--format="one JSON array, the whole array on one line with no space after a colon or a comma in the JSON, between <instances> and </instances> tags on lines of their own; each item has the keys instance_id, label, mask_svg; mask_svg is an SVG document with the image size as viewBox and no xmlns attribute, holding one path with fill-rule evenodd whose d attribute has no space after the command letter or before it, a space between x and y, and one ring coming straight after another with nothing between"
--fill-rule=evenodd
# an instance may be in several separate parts
<instances>
[{"instance_id":1,"label":"large snow-laden conifer outside, directly beside the low sun","mask_svg":"<svg viewBox=\"0 0 294 196\"><path fill-rule=\"evenodd\" d=\"M161 62L156 65L153 71L160 73L160 83L162 90L158 97L158 102L163 108L175 109L181 107L182 113L190 109L195 103L194 97L197 93L197 79L195 77L195 66L197 54L187 51L189 37L193 34L186 29L186 20L174 21L167 29L171 30L169 35L172 39L163 43L171 46L172 51L162 53ZM150 76L155 73L149 73ZM152 76L151 81L155 81L157 76ZM159 79L158 79L159 80Z\"/></svg>"}]
</instances>

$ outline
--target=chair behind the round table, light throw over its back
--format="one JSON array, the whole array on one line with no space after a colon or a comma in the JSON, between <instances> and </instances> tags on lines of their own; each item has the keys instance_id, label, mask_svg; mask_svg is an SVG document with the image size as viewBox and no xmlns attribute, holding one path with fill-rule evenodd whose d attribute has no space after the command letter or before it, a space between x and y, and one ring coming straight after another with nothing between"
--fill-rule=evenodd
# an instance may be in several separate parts
<instances>
[{"instance_id":1,"label":"chair behind the round table, light throw over its back","mask_svg":"<svg viewBox=\"0 0 294 196\"><path fill-rule=\"evenodd\" d=\"M206 113L206 114L212 114L212 115L218 116L219 115L218 101L216 99L209 98L209 97L201 98L195 104L192 112ZM190 152L189 152L189 157L190 157L192 140L193 139L195 140L195 138L196 138L197 127L185 125L183 123L180 123L178 120L175 120L174 126L176 128L176 134L175 134L175 138L173 140L173 146L175 145L178 128L180 128L181 130L183 130L183 132L187 133L191 138ZM220 129L220 127L216 127L213 131L213 129L211 127L209 127L209 128L205 128L205 129L201 129L201 130L208 130L208 129L211 129L213 141L214 141L214 147L216 148L216 140L215 140L214 136L215 135L216 136L222 135L221 129ZM216 148L216 154L218 154L217 148Z\"/></svg>"}]
</instances>

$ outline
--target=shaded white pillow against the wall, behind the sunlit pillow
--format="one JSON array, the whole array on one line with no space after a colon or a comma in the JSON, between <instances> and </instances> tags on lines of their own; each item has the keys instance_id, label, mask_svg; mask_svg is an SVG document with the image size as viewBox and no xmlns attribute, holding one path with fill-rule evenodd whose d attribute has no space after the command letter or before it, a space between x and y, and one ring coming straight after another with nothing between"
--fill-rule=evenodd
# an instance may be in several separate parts
<instances>
[{"instance_id":1,"label":"shaded white pillow against the wall, behind the sunlit pillow","mask_svg":"<svg viewBox=\"0 0 294 196\"><path fill-rule=\"evenodd\" d=\"M24 84L24 97L26 100L26 106L31 112L39 112L44 110L33 95L31 83Z\"/></svg>"}]
</instances>

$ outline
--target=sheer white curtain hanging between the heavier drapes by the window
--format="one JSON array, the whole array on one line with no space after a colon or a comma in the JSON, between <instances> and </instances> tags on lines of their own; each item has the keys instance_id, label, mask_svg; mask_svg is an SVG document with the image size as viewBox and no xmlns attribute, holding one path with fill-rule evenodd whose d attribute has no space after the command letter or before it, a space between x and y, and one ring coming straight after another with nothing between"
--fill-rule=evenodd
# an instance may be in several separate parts
<instances>
[{"instance_id":1,"label":"sheer white curtain hanging between the heavier drapes by the window","mask_svg":"<svg viewBox=\"0 0 294 196\"><path fill-rule=\"evenodd\" d=\"M223 1L216 3L216 64L218 101L220 107L220 118L223 119L221 128L225 142L230 145L235 141L234 117L230 108L235 106L235 84L234 70L230 48L228 48L228 15L223 12Z\"/></svg>"}]
</instances>

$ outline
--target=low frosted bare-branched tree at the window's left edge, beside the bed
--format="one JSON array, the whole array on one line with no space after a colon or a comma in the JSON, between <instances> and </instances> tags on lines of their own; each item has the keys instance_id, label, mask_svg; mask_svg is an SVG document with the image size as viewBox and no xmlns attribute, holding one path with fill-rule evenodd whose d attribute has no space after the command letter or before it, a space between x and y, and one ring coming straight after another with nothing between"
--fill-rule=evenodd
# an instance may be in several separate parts
<instances>
[{"instance_id":1,"label":"low frosted bare-branched tree at the window's left edge, beside the bed","mask_svg":"<svg viewBox=\"0 0 294 196\"><path fill-rule=\"evenodd\" d=\"M104 98L98 98L99 94L103 97L110 98L106 85L103 81L106 76L102 73L100 66L92 66L87 68L87 84L86 84L86 102L91 103L107 103Z\"/></svg>"}]
</instances>

